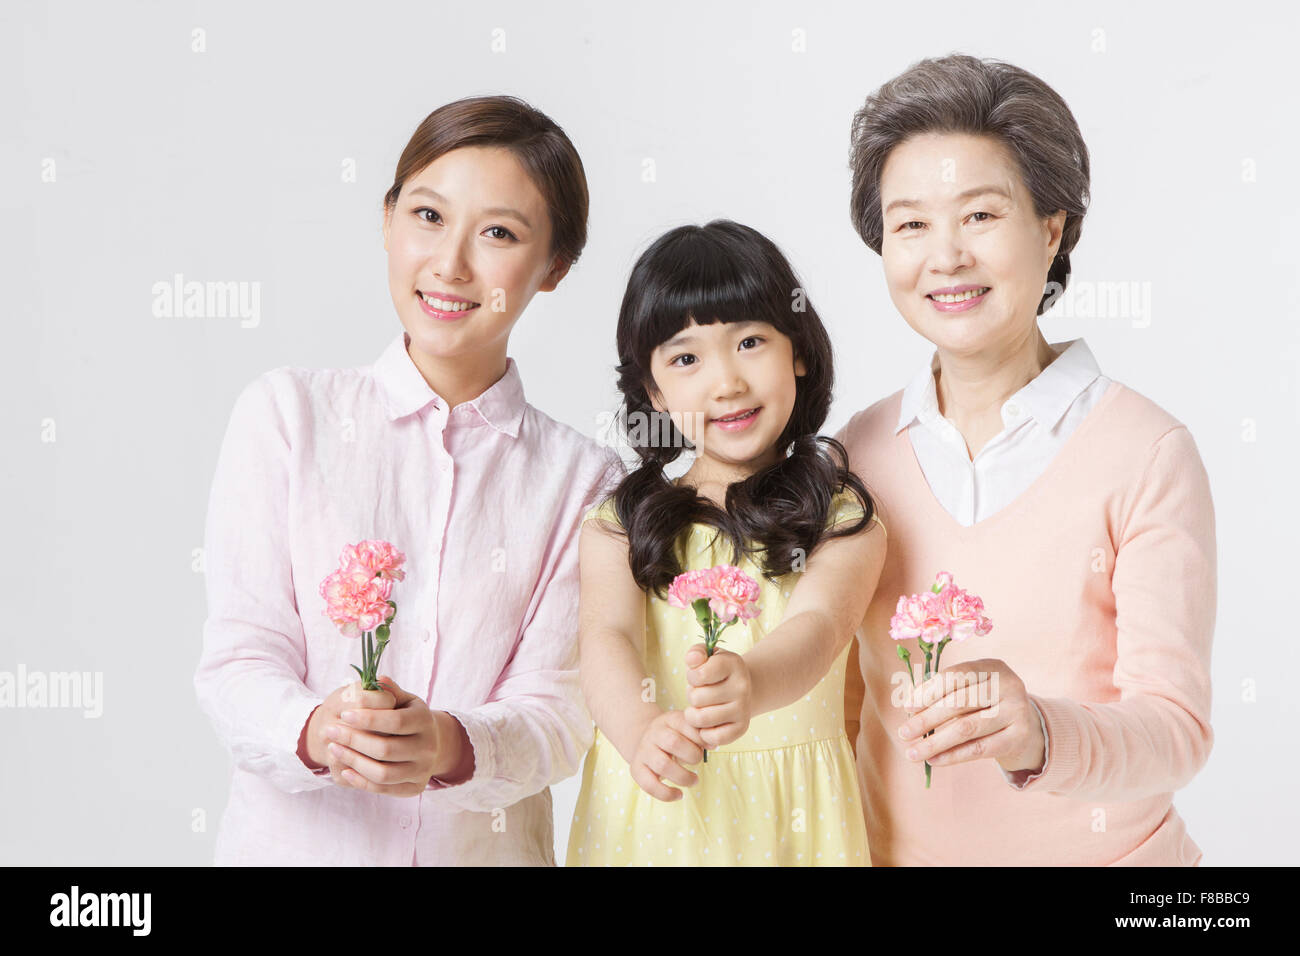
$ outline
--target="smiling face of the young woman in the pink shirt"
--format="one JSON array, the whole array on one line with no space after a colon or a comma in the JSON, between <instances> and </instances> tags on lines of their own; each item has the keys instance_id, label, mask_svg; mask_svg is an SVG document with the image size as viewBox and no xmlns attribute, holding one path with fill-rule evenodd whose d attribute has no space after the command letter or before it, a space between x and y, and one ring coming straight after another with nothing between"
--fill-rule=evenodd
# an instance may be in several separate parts
<instances>
[{"instance_id":1,"label":"smiling face of the young woman in the pink shirt","mask_svg":"<svg viewBox=\"0 0 1300 956\"><path fill-rule=\"evenodd\" d=\"M550 242L546 200L508 150L462 147L408 178L385 209L384 248L411 349L499 360L533 294L568 272Z\"/></svg>"}]
</instances>

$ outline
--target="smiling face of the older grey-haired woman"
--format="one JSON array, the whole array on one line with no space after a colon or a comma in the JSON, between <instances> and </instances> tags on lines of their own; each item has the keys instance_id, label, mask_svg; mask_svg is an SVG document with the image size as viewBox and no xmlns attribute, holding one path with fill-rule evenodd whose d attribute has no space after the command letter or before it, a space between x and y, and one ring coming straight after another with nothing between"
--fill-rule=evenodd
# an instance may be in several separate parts
<instances>
[{"instance_id":1,"label":"smiling face of the older grey-haired woman","mask_svg":"<svg viewBox=\"0 0 1300 956\"><path fill-rule=\"evenodd\" d=\"M1065 212L1039 219L996 139L928 133L880 174L889 297L941 351L997 355L1032 334Z\"/></svg>"}]
</instances>

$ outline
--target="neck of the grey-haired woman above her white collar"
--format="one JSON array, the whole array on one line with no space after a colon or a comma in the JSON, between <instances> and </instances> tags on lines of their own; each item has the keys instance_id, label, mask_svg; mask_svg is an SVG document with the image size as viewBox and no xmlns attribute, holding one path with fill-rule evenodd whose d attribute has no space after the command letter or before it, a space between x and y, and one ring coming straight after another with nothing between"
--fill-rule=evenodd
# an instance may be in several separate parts
<instances>
[{"instance_id":1,"label":"neck of the grey-haired woman above her white collar","mask_svg":"<svg viewBox=\"0 0 1300 956\"><path fill-rule=\"evenodd\" d=\"M939 414L962 431L983 418L1001 420L1002 402L1034 381L1056 358L1037 323L1013 349L997 355L954 355L940 350L935 372Z\"/></svg>"}]
</instances>

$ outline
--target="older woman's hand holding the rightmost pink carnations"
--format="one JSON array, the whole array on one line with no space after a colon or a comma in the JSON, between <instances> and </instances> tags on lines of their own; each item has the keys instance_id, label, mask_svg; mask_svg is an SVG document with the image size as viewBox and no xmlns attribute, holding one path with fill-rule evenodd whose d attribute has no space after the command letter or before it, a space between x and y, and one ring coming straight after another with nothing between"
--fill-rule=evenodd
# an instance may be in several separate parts
<instances>
[{"instance_id":1,"label":"older woman's hand holding the rightmost pink carnations","mask_svg":"<svg viewBox=\"0 0 1300 956\"><path fill-rule=\"evenodd\" d=\"M898 728L907 757L932 766L994 758L1008 771L1043 769L1045 741L1024 682L1005 661L980 658L944 667L916 688ZM924 734L935 731L926 737Z\"/></svg>"}]
</instances>

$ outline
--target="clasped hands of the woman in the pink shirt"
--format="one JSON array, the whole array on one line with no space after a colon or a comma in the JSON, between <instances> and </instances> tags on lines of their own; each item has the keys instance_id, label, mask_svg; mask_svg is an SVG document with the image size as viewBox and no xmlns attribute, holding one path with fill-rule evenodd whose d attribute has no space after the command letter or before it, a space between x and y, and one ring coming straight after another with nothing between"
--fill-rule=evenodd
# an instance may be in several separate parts
<instances>
[{"instance_id":1,"label":"clasped hands of the woman in the pink shirt","mask_svg":"<svg viewBox=\"0 0 1300 956\"><path fill-rule=\"evenodd\" d=\"M429 710L421 697L403 691L389 676L380 682L389 688L395 706L355 708L334 726L337 736L330 750L342 765L338 778L343 786L385 796L416 796L429 786L430 777L451 774L464 760L472 760L469 740L456 718ZM468 770L472 775L472 763Z\"/></svg>"}]
</instances>

